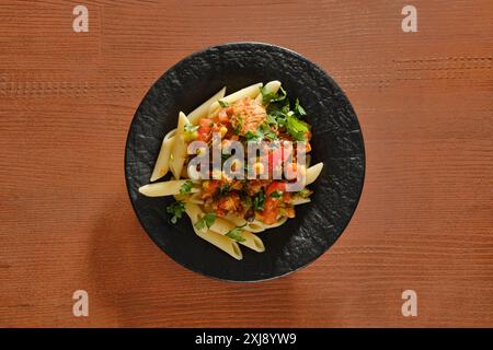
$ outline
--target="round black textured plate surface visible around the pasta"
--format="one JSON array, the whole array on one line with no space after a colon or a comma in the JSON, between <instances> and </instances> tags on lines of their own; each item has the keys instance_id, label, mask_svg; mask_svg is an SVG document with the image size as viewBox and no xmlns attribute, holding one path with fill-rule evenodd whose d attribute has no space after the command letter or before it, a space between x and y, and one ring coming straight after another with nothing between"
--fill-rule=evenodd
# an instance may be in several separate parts
<instances>
[{"instance_id":1,"label":"round black textured plate surface visible around the pasta","mask_svg":"<svg viewBox=\"0 0 493 350\"><path fill-rule=\"evenodd\" d=\"M185 114L222 86L233 92L256 82L279 80L299 97L312 125L312 164L323 171L310 186L312 202L296 208L296 219L259 235L265 253L242 247L238 261L192 230L188 218L168 222L171 198L147 198L164 135ZM128 132L125 176L131 203L152 241L184 267L230 281L259 281L293 272L321 256L337 240L356 209L363 189L365 150L356 114L337 84L319 67L291 50L259 43L215 46L186 57L149 90Z\"/></svg>"}]
</instances>

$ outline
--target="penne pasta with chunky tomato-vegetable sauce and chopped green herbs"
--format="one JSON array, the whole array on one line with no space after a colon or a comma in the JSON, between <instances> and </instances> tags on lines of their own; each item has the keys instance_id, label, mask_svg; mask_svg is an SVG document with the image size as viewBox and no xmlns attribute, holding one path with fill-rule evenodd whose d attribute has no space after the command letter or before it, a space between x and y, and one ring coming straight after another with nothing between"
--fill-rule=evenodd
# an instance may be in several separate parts
<instances>
[{"instance_id":1,"label":"penne pasta with chunky tomato-vegetable sauce and chopped green herbs","mask_svg":"<svg viewBox=\"0 0 493 350\"><path fill-rule=\"evenodd\" d=\"M323 163L310 165L311 127L298 98L279 81L226 95L222 88L188 115L161 144L148 197L173 196L173 224L186 213L196 235L242 259L240 245L265 247L257 235L295 218L310 202L307 187ZM171 173L171 178L157 182Z\"/></svg>"}]
</instances>

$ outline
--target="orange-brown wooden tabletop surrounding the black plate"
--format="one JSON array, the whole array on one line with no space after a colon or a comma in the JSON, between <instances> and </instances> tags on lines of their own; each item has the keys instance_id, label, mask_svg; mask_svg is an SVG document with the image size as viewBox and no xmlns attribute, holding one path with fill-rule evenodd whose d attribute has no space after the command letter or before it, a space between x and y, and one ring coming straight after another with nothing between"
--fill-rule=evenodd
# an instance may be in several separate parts
<instances>
[{"instance_id":1,"label":"orange-brown wooden tabletop surrounding the black plate","mask_svg":"<svg viewBox=\"0 0 493 350\"><path fill-rule=\"evenodd\" d=\"M72 9L89 9L89 33ZM2 1L0 326L493 326L493 2ZM347 93L366 182L337 243L262 283L185 270L124 179L135 109L174 62L291 48ZM72 315L74 290L89 317ZM417 293L403 317L401 293Z\"/></svg>"}]
</instances>

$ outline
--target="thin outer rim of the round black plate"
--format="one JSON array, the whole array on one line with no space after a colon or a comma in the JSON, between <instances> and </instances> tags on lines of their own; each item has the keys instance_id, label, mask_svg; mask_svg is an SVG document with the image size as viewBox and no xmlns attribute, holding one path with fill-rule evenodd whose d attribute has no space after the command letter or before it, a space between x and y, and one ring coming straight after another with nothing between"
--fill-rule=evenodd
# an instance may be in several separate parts
<instances>
[{"instance_id":1,"label":"thin outer rim of the round black plate","mask_svg":"<svg viewBox=\"0 0 493 350\"><path fill-rule=\"evenodd\" d=\"M285 273L283 273L283 275L277 275L277 276L274 276L274 277L270 277L270 278L263 278L263 279L256 279L256 280L243 280L243 281L241 281L241 280L230 280L230 279L219 278L219 277L217 277L217 276L208 275L206 271L197 270L197 269L195 269L194 267L186 266L186 265L183 264L182 261L177 261L177 260L175 260L174 258L172 258L171 256L169 256L169 255L167 254L167 252L164 252L164 250L161 248L161 246L158 244L158 242L154 240L154 237L153 237L151 234L149 234L149 233L147 232L147 230L145 229L145 224L144 224L144 222L141 221L140 217L138 215L138 213L137 213L137 208L135 207L135 203L134 203L134 201L131 200L130 186L129 186L129 180L128 180L128 176L127 176L127 163L128 163L128 160L127 160L127 150L128 150L128 144L129 144L129 140L130 140L130 131L131 131L131 129L133 129L134 124L136 122L137 110L140 109L140 106L142 105L145 97L149 94L149 92L151 91L152 86L153 86L159 80L164 79L164 78L169 74L170 71L174 70L179 65L182 65L184 61L187 61L187 60L190 60L190 59L192 59L192 58L194 58L194 57L196 57L196 56L200 56L202 54L204 54L204 52L206 52L206 51L208 51L208 50L210 50L210 49L215 49L215 48L219 48L219 47L236 46L236 45L259 45L259 46L264 46L264 47L273 47L273 48L276 48L276 49L282 49L282 50L288 51L289 54L291 54L291 55L298 57L298 58L301 59L302 61L306 61L306 62L308 62L308 63L310 63L310 65L316 66L316 67L320 70L320 72L321 72L323 75L325 75L325 78L329 79L329 80L331 81L331 83L332 83L335 88L339 89L339 91L341 92L341 95L347 101L347 104L348 104L348 107L351 108L351 112L353 112L353 114L356 116L355 122L356 122L356 125L358 126L358 129L359 129L359 131L360 131L360 132L359 132L359 138L360 138L360 141L362 141L360 143L362 143L362 162L363 162L363 174L362 174L360 188L359 188L358 196L357 196L357 199L356 199L356 202L355 202L355 207L354 207L353 212L351 213L351 215L349 215L347 222L342 226L341 232L340 232L339 235L335 237L335 240L332 242L332 244L331 244L331 245L330 245L322 254L320 254L320 255L318 255L318 256L314 256L310 261L308 261L308 262L305 264L303 266L300 266L300 267L298 267L298 268L296 268L296 269L294 269L294 270L291 270L291 271L285 272ZM365 140L364 140L364 137L363 137L363 130L362 130L362 126L360 126L360 124L359 124L359 119L357 118L357 114L355 113L354 107L353 107L353 105L352 105L349 98L347 98L345 92L344 92L344 91L341 89L341 86L332 79L332 77L331 77L330 74L328 74L328 73L325 72L325 70L322 69L319 65L316 65L314 62L312 62L311 60L309 60L308 58L306 58L306 57L302 56L301 54L298 54L297 51L294 51L294 50L291 50L291 49L289 49L289 48L286 48L286 47L279 46L279 45L274 45L274 44L268 44L268 43L262 43L262 42L230 42L230 43L223 43L223 44L218 44L218 45L208 46L208 47L206 47L206 48L204 48L204 49L200 49L200 50L198 50L198 51L195 51L195 52L193 52L193 54L191 54L191 55L188 55L188 56L182 58L182 59L179 60L176 63L174 63L173 66L171 66L170 68L168 68L167 71L165 71L164 73L162 73L162 74L161 74L161 75L152 83L152 85L149 88L149 90L148 90L148 91L146 92L146 94L144 95L142 101L140 102L139 106L137 107L136 113L134 114L134 117L131 118L131 121L130 121L130 125L129 125L129 128L128 128L128 131L127 131L127 139L126 139L126 141L125 141L125 154L124 154L124 173L125 173L125 185L126 185L126 187L127 187L128 199L130 200L131 208L133 208L133 210L134 210L135 215L137 217L137 219L138 219L138 221L139 221L139 224L140 224L140 226L141 226L141 229L146 232L146 235L153 242L153 244L154 244L162 253L164 253L165 255L168 255L168 257L169 257L171 260L173 260L174 262L176 262L176 264L180 265L181 267L185 268L186 270L193 271L193 272L195 272L195 273L205 276L205 277L210 278L210 279L214 279L214 280L226 281L226 282L233 282L233 283L255 283L255 282L270 281L270 280L275 280L275 279L278 279L278 278L282 278L282 277L286 277L286 276L289 276L289 275L291 275L291 273L294 273L294 272L296 272L296 271L299 271L299 270L301 270L301 269L308 267L309 265L311 265L312 262L314 262L318 258L320 258L322 255L324 255L324 254L325 254L325 253L326 253L326 252L328 252L328 250L329 250L329 249L337 242L337 240L342 236L342 234L344 233L344 231L345 231L345 230L347 229L347 226L349 225L351 220L353 219L354 213L356 212L356 210L357 210L357 208L358 208L358 205L359 205L359 201L360 201L362 195L363 195L363 189L364 189L364 187L365 187L365 177L366 177L366 150L365 150Z\"/></svg>"}]
</instances>

